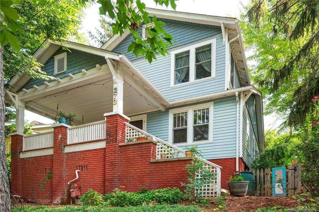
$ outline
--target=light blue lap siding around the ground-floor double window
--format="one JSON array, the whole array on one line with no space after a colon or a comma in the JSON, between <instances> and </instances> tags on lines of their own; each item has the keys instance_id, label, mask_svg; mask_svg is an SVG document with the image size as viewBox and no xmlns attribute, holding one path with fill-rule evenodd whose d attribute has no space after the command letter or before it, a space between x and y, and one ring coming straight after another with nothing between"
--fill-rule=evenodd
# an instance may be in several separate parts
<instances>
[{"instance_id":1,"label":"light blue lap siding around the ground-floor double window","mask_svg":"<svg viewBox=\"0 0 319 212\"><path fill-rule=\"evenodd\" d=\"M210 101L197 102L202 104ZM190 104L190 105L196 105ZM189 106L190 106L189 105ZM185 105L181 106L184 107ZM147 132L168 141L168 116L166 111L154 111L147 114ZM139 114L140 115L140 114ZM133 116L134 117L134 116ZM236 157L236 98L227 97L214 100L213 142L198 144L205 159ZM185 149L185 147L181 147Z\"/></svg>"}]
</instances>

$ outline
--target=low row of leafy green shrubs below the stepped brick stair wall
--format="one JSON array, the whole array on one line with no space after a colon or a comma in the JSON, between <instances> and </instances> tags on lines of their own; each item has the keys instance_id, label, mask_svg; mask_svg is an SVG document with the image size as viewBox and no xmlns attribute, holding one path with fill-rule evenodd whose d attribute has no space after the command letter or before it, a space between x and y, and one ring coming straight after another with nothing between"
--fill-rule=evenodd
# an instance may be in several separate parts
<instances>
[{"instance_id":1,"label":"low row of leafy green shrubs below the stepped brick stair wall","mask_svg":"<svg viewBox=\"0 0 319 212\"><path fill-rule=\"evenodd\" d=\"M150 191L127 192L114 189L115 193L104 195L107 205L110 206L138 206L151 201L158 204L176 204L181 201L182 191L178 188L160 188ZM144 193L142 193L144 192Z\"/></svg>"}]
</instances>

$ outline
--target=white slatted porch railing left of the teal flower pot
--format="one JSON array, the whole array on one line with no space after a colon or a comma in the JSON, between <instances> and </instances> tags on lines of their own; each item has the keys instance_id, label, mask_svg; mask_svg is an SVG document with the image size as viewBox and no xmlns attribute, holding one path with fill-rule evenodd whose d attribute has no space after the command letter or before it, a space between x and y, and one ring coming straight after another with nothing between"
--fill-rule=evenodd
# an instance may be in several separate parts
<instances>
[{"instance_id":1,"label":"white slatted porch railing left of the teal flower pot","mask_svg":"<svg viewBox=\"0 0 319 212\"><path fill-rule=\"evenodd\" d=\"M23 136L23 151L46 147L53 147L53 131Z\"/></svg>"}]
</instances>

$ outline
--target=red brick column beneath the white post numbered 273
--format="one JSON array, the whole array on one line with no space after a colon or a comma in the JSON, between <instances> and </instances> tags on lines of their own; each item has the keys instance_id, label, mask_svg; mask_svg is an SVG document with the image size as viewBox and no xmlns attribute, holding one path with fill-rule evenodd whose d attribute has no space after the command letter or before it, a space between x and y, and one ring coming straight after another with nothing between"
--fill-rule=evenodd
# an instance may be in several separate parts
<instances>
[{"instance_id":1,"label":"red brick column beneath the white post numbered 273","mask_svg":"<svg viewBox=\"0 0 319 212\"><path fill-rule=\"evenodd\" d=\"M129 117L119 113L105 113L105 193L120 187L120 143L125 143L125 122Z\"/></svg>"}]
</instances>

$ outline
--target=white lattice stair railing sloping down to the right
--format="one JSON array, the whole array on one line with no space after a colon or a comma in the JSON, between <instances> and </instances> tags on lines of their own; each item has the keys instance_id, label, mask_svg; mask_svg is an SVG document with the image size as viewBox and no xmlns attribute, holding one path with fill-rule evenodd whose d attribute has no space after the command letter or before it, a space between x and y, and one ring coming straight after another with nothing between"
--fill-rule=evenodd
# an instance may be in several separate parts
<instances>
[{"instance_id":1,"label":"white lattice stair railing sloping down to the right","mask_svg":"<svg viewBox=\"0 0 319 212\"><path fill-rule=\"evenodd\" d=\"M160 159L161 154L166 154L166 158L177 158L177 157L185 157L185 150L176 147L173 144L166 142L150 133L147 133L137 127L129 123L125 123L126 132L125 132L125 142L135 141L135 137L137 136L149 136L152 140L157 142L157 152L156 158ZM220 184L220 169L222 167L218 166L215 163L205 160L204 158L199 158L205 163L206 168L210 168L212 172L216 173L216 180L213 181L212 184L205 185L203 188L197 188L201 192L202 197L210 197L210 196L219 196L221 190ZM196 174L196 177L200 178L200 174Z\"/></svg>"}]
</instances>

